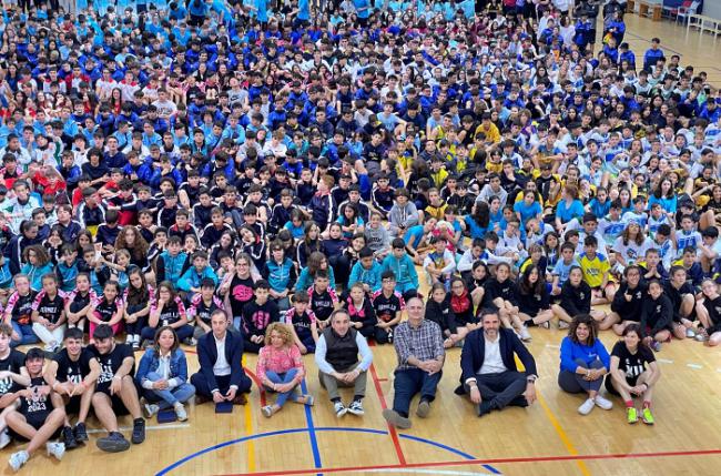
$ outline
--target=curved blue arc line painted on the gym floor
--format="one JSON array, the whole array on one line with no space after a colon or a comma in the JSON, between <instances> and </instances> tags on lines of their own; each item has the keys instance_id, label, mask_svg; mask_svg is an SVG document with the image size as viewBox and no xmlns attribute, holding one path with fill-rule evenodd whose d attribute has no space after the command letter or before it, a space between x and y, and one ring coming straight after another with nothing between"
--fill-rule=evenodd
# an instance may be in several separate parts
<instances>
[{"instance_id":1,"label":"curved blue arc line painted on the gym floor","mask_svg":"<svg viewBox=\"0 0 721 476\"><path fill-rule=\"evenodd\" d=\"M317 428L314 427L313 429L314 429L314 432L352 432L352 433L370 433L370 434L374 434L374 435L387 435L388 434L388 432L384 431L384 429L348 428L348 427L342 427L342 426L319 426ZM232 446L232 445L236 445L236 444L245 443L245 442L250 442L250 440L261 439L261 438L267 438L267 437L271 437L271 436L290 435L290 434L294 434L294 433L305 433L305 432L309 432L309 427L308 428L277 429L277 431L274 431L274 432L256 433L255 435L247 435L247 436L243 436L242 438L230 439L227 442L219 443L217 445L209 446L207 448L200 449L200 450L197 450L195 453L192 453L192 454L176 460L175 463L172 463L171 465L166 466L165 468L161 469L160 472L155 473L155 476L164 476L164 475L169 474L170 472L172 472L172 470L179 468L180 466L184 465L185 463L190 462L191 459L195 459L199 456L203 456L203 455L205 455L207 453L212 453L212 452L215 452L217 449L225 448L227 446ZM426 439L426 438L422 438L422 437L413 436L413 435L407 435L407 434L399 434L398 436L400 436L402 438L415 440L415 442L418 442L418 443L424 443L424 444L435 446L435 447L440 448L440 449L445 449L445 450L447 450L449 453L453 453L453 454L455 454L457 456L463 457L464 459L476 459L476 457L474 457L473 455L469 455L467 453L464 453L464 452L461 452L459 449L456 449L456 448L453 448L450 446L444 445L441 443L434 442L431 439ZM317 440L316 440L316 448L317 448ZM318 455L318 458L319 458L319 455ZM492 467L490 465L483 465L483 467L485 467L486 469L492 472L494 474L501 474L500 470L496 469L495 467Z\"/></svg>"}]
</instances>

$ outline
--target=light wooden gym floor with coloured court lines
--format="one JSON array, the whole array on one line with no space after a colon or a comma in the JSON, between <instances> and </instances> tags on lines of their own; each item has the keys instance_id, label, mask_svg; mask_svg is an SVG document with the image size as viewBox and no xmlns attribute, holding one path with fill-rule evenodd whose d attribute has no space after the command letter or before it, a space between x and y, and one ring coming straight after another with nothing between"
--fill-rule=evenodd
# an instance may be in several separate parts
<instances>
[{"instance_id":1,"label":"light wooden gym floor with coloured court lines","mask_svg":"<svg viewBox=\"0 0 721 476\"><path fill-rule=\"evenodd\" d=\"M639 62L652 37L667 51L682 55L721 84L721 42L668 22L654 23L627 16L627 41ZM215 416L211 405L189 408L187 423L148 422L148 438L122 454L97 449L93 429L85 448L68 452L62 463L38 454L24 474L97 475L713 475L721 467L721 353L692 341L674 341L657 354L662 379L654 397L654 426L626 423L620 401L615 408L596 408L580 416L580 396L559 391L556 383L559 344L565 333L532 328L529 347L538 363L539 401L529 408L509 408L481 419L471 404L454 395L459 376L460 350L451 350L444 367L438 397L426 421L413 418L405 432L389 429L380 412L393 403L392 346L375 347L365 417L337 419L319 388L312 357L307 389L316 406L288 403L267 419L261 415L266 396L254 386L248 405L231 415ZM617 337L605 333L611 348ZM189 351L191 372L197 368ZM138 357L140 358L140 353ZM246 368L255 369L255 356ZM252 374L248 372L251 376ZM347 395L349 398L351 395ZM129 428L130 419L121 421ZM91 418L90 428L98 428ZM128 432L126 432L128 433ZM0 467L17 445L0 452ZM717 468L717 469L713 469Z\"/></svg>"}]
</instances>

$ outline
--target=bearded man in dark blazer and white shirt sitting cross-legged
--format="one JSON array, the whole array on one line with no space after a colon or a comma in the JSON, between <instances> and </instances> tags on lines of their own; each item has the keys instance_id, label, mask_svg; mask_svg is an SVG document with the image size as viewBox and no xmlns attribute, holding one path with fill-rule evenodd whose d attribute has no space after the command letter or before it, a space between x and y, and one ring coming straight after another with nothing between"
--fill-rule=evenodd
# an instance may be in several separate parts
<instances>
[{"instance_id":1,"label":"bearded man in dark blazer and white shirt sitting cross-legged","mask_svg":"<svg viewBox=\"0 0 721 476\"><path fill-rule=\"evenodd\" d=\"M460 354L459 395L469 394L478 416L508 405L528 406L536 401L536 361L512 330L500 328L496 312L484 313L483 328L466 336ZM518 372L514 354L526 367Z\"/></svg>"}]
</instances>

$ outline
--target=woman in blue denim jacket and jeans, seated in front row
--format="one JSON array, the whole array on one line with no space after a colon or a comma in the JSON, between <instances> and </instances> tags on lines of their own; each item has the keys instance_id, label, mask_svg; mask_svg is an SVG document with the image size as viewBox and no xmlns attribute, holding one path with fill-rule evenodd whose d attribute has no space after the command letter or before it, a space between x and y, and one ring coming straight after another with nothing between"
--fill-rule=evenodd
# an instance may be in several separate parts
<instances>
[{"instance_id":1,"label":"woman in blue denim jacket and jeans, seated in front row","mask_svg":"<svg viewBox=\"0 0 721 476\"><path fill-rule=\"evenodd\" d=\"M179 421L187 419L183 404L195 395L195 387L187 383L187 362L179 345L175 331L163 326L140 359L135 379L143 388L141 406L146 418L173 408Z\"/></svg>"}]
</instances>

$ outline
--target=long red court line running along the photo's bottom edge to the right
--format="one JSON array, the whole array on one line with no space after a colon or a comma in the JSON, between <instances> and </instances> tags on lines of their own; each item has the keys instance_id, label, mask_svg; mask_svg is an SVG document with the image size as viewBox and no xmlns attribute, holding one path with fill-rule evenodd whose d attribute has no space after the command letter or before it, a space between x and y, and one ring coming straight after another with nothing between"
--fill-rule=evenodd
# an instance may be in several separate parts
<instances>
[{"instance_id":1,"label":"long red court line running along the photo's bottom edge to the right","mask_svg":"<svg viewBox=\"0 0 721 476\"><path fill-rule=\"evenodd\" d=\"M429 468L443 466L469 466L479 464L504 464L504 463L542 463L542 462L563 462L563 460L593 460L593 459L633 459L633 458L658 458L673 456L709 456L720 455L721 449L699 449L689 452L657 452L657 453L616 453L608 455L560 455L560 456L529 456L514 458L491 458L491 459L460 459L457 462L428 462L428 463L407 463L399 465L374 465L374 466L346 466L337 468L323 468L323 473L351 473L372 469L396 469L396 468ZM290 476L318 473L317 468L312 469L284 469L273 472L250 473L252 476ZM246 473L247 475L247 473ZM243 474L226 474L222 476L243 476Z\"/></svg>"}]
</instances>

